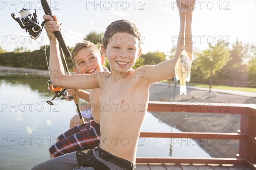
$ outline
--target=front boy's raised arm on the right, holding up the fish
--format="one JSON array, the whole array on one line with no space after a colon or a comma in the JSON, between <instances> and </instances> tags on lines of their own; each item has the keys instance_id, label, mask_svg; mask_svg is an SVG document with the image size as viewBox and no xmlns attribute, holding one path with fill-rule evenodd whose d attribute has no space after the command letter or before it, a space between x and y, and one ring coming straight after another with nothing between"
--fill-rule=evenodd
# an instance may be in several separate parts
<instances>
[{"instance_id":1,"label":"front boy's raised arm on the right, holding up the fish","mask_svg":"<svg viewBox=\"0 0 256 170\"><path fill-rule=\"evenodd\" d=\"M192 12L195 6L195 0L177 0L177 7L180 16L180 32L177 41L177 48L175 53L175 58L170 59L165 62L161 62L157 65L147 65L138 68L138 70L143 69L143 76L148 81L148 83L154 83L169 79L175 76L175 65L177 59L180 56L181 51L183 51L183 45L185 42L186 52L193 54L192 42L188 40L191 37L191 24L192 24ZM186 21L186 28L185 28ZM185 29L185 35L184 35ZM185 40L185 38L186 40Z\"/></svg>"}]
</instances>

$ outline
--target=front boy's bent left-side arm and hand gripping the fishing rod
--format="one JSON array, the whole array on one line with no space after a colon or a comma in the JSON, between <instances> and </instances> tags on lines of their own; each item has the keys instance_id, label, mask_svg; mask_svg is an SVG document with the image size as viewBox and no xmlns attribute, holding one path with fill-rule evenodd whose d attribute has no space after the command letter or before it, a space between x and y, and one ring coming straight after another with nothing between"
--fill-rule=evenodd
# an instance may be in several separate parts
<instances>
[{"instance_id":1,"label":"front boy's bent left-side arm and hand gripping the fishing rod","mask_svg":"<svg viewBox=\"0 0 256 170\"><path fill-rule=\"evenodd\" d=\"M59 46L57 39L54 35L54 31L61 31L61 26L55 16L55 20L49 15L44 15L44 20L49 20L45 23L44 28L47 31L47 35L50 40L50 75L53 85L69 88L69 89L93 89L99 88L97 75L65 75L65 71L61 62L61 57L59 53ZM100 73L99 73L100 74ZM79 82L79 83L78 83Z\"/></svg>"}]
</instances>

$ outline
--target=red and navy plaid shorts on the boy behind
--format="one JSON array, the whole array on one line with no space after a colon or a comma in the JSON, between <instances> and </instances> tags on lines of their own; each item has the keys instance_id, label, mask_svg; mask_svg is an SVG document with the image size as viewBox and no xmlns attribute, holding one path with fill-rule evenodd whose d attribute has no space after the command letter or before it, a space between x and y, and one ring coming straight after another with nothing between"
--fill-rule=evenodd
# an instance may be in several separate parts
<instances>
[{"instance_id":1,"label":"red and navy plaid shorts on the boy behind","mask_svg":"<svg viewBox=\"0 0 256 170\"><path fill-rule=\"evenodd\" d=\"M49 148L49 152L54 157L77 150L92 149L99 145L99 124L91 120L84 125L77 125L58 136L58 140Z\"/></svg>"}]
</instances>

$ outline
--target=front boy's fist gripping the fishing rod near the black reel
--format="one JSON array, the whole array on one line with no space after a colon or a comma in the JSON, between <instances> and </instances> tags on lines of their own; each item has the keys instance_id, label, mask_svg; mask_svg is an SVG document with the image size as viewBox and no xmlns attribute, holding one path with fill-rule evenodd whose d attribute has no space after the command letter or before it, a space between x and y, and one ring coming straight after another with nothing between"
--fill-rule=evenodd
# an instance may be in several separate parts
<instances>
[{"instance_id":1,"label":"front boy's fist gripping the fishing rod near the black reel","mask_svg":"<svg viewBox=\"0 0 256 170\"><path fill-rule=\"evenodd\" d=\"M58 22L58 18L55 15L53 15L54 20L49 15L44 15L43 18L44 20L49 20L44 24L44 29L47 32L47 36L50 40L57 40L53 32L61 31L61 25Z\"/></svg>"}]
</instances>

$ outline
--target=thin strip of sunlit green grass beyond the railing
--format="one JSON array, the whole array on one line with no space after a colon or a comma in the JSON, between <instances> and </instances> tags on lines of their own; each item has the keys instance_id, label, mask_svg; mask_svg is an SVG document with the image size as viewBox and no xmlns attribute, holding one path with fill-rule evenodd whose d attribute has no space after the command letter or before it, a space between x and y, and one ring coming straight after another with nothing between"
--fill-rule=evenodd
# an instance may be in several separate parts
<instances>
[{"instance_id":1,"label":"thin strip of sunlit green grass beyond the railing","mask_svg":"<svg viewBox=\"0 0 256 170\"><path fill-rule=\"evenodd\" d=\"M164 80L162 82L168 83L169 81ZM171 81L171 83L174 84L174 82L172 82L172 81ZM179 82L178 82L178 84L179 84ZM186 82L186 85L191 85L191 86L201 87L201 88L209 88L209 84ZM242 88L242 87L233 87L233 86L228 86L228 85L212 85L212 88L256 92L256 88Z\"/></svg>"}]
</instances>

